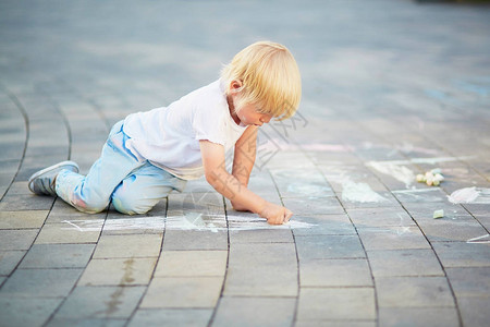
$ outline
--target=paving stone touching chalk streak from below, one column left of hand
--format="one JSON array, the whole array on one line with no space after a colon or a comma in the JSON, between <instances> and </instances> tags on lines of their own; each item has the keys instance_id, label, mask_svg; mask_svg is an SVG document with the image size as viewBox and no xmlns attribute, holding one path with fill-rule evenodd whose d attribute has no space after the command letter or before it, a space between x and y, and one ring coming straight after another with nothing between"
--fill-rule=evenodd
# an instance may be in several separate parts
<instances>
[{"instance_id":1,"label":"paving stone touching chalk streak from below, one column left of hand","mask_svg":"<svg viewBox=\"0 0 490 327\"><path fill-rule=\"evenodd\" d=\"M228 250L228 232L167 230L163 249L166 251Z\"/></svg>"}]
</instances>

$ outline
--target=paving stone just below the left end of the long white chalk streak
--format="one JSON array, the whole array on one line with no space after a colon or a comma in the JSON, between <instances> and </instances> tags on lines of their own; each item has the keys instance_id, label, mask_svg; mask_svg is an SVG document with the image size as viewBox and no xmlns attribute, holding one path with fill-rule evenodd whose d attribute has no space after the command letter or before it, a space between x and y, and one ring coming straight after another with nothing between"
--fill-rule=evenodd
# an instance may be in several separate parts
<instances>
[{"instance_id":1,"label":"paving stone just below the left end of the long white chalk streak","mask_svg":"<svg viewBox=\"0 0 490 327\"><path fill-rule=\"evenodd\" d=\"M35 244L96 243L99 234L99 228L81 231L69 223L49 223L42 227Z\"/></svg>"}]
</instances>

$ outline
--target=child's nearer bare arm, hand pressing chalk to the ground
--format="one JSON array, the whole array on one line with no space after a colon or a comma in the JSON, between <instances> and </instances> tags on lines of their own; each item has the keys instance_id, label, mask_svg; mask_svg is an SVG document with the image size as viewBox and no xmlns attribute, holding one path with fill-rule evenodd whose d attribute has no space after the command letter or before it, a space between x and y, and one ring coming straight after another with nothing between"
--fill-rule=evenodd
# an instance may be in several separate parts
<instances>
[{"instance_id":1,"label":"child's nearer bare arm, hand pressing chalk to the ground","mask_svg":"<svg viewBox=\"0 0 490 327\"><path fill-rule=\"evenodd\" d=\"M271 225L281 225L290 220L293 213L265 201L226 171L222 145L209 141L199 141L199 145L206 180L216 191L241 208L246 208L266 218Z\"/></svg>"}]
</instances>

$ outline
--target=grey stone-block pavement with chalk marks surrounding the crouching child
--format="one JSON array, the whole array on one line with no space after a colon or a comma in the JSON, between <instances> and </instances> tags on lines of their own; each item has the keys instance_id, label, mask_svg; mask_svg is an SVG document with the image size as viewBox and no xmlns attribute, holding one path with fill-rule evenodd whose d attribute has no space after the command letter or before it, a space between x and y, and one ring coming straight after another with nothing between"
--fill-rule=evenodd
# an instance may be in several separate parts
<instances>
[{"instance_id":1,"label":"grey stone-block pavement with chalk marks surrounding the crouching child","mask_svg":"<svg viewBox=\"0 0 490 327\"><path fill-rule=\"evenodd\" d=\"M489 31L485 4L1 1L0 326L488 326ZM289 226L204 180L131 217L27 190L259 39L303 74L249 185Z\"/></svg>"}]
</instances>

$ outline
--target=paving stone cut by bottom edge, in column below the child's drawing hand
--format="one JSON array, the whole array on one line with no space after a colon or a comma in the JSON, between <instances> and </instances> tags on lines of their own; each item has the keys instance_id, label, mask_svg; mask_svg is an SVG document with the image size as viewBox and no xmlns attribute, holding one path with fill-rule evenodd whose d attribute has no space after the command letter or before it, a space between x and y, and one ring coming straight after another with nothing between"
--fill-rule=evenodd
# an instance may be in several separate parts
<instances>
[{"instance_id":1,"label":"paving stone cut by bottom edge, in column below the child's drawing hand","mask_svg":"<svg viewBox=\"0 0 490 327\"><path fill-rule=\"evenodd\" d=\"M223 296L212 326L292 326L295 305L294 298Z\"/></svg>"}]
</instances>

